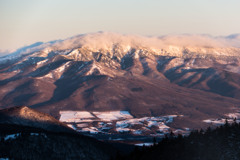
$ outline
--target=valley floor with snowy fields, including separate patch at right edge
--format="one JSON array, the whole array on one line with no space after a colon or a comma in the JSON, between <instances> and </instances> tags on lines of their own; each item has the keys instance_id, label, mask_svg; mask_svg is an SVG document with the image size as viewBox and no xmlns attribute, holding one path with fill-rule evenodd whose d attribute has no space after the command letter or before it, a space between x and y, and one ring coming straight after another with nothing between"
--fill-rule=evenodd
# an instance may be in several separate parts
<instances>
[{"instance_id":1,"label":"valley floor with snowy fields, including separate patch at right edge","mask_svg":"<svg viewBox=\"0 0 240 160\"><path fill-rule=\"evenodd\" d=\"M128 111L60 111L60 121L84 135L104 141L118 141L134 145L151 145L153 137L163 139L171 132L174 135L187 136L191 128L172 128L169 126L175 118L184 115L166 115L158 117L134 118ZM225 117L206 119L203 122L211 126L223 125L228 118L240 122L240 113L229 113Z\"/></svg>"}]
</instances>

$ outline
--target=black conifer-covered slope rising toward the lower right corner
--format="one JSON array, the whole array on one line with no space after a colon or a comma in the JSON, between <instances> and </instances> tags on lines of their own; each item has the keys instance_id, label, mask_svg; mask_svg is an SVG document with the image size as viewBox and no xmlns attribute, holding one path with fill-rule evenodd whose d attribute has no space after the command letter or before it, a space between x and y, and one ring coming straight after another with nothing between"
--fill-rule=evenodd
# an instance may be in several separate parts
<instances>
[{"instance_id":1,"label":"black conifer-covered slope rising toward the lower right corner","mask_svg":"<svg viewBox=\"0 0 240 160\"><path fill-rule=\"evenodd\" d=\"M127 160L239 160L240 124L206 131L193 131L188 137L170 135L151 147L135 148Z\"/></svg>"}]
</instances>

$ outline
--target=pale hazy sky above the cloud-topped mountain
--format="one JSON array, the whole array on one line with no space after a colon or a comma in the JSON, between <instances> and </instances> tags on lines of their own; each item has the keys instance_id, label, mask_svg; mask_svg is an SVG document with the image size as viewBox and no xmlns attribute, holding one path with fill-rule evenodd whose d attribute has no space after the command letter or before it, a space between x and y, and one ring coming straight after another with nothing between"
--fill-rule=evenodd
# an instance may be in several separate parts
<instances>
[{"instance_id":1,"label":"pale hazy sky above the cloud-topped mountain","mask_svg":"<svg viewBox=\"0 0 240 160\"><path fill-rule=\"evenodd\" d=\"M239 0L0 0L0 52L82 33L229 35Z\"/></svg>"}]
</instances>

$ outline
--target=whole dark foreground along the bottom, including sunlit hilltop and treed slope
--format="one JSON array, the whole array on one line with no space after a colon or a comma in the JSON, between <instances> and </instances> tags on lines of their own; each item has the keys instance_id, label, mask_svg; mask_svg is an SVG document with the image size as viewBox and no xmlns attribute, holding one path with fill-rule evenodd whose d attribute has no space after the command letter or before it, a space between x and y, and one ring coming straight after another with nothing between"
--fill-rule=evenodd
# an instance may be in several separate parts
<instances>
[{"instance_id":1,"label":"whole dark foreground along the bottom, including sunlit hilltop and treed slope","mask_svg":"<svg viewBox=\"0 0 240 160\"><path fill-rule=\"evenodd\" d=\"M35 118L23 117L22 112ZM63 132L41 127L39 121L55 120L26 107L4 110L4 114L8 119L0 123L0 159L240 160L240 123L236 119L215 129L192 131L186 137L171 132L160 142L153 139L151 147L134 149L127 144L101 142L68 129ZM21 119L23 121L18 122Z\"/></svg>"}]
</instances>

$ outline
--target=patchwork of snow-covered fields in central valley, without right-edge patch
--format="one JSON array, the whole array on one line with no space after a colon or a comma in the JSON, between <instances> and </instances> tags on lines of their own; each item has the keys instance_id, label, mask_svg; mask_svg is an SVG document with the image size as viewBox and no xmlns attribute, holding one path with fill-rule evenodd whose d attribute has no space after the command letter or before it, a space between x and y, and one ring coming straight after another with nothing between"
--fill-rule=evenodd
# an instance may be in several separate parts
<instances>
[{"instance_id":1,"label":"patchwork of snow-covered fields in central valley, without right-edge patch","mask_svg":"<svg viewBox=\"0 0 240 160\"><path fill-rule=\"evenodd\" d=\"M60 111L60 121L79 132L90 134L133 134L164 136L171 129L168 124L182 115L134 118L128 111L88 112ZM174 133L186 133L188 130L173 130Z\"/></svg>"}]
</instances>

